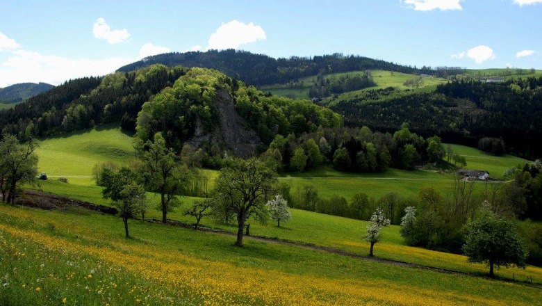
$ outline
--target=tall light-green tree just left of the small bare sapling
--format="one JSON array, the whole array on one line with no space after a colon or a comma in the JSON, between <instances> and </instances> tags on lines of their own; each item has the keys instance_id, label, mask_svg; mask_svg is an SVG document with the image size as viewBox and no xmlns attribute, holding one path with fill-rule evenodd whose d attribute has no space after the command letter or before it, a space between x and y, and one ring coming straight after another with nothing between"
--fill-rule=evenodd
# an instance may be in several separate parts
<instances>
[{"instance_id":1,"label":"tall light-green tree just left of the small bare sapling","mask_svg":"<svg viewBox=\"0 0 542 306\"><path fill-rule=\"evenodd\" d=\"M167 213L179 206L177 196L187 186L188 169L179 166L177 156L171 148L165 146L162 134L154 135L154 142L144 143L140 138L134 141L134 147L142 161L145 184L151 191L160 193L162 222L167 222Z\"/></svg>"}]
</instances>

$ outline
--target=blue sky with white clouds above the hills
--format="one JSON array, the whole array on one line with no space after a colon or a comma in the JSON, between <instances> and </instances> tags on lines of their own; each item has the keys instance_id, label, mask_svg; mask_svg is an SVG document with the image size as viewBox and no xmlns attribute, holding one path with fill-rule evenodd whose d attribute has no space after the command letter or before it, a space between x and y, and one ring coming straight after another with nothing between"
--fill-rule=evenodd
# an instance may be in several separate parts
<instances>
[{"instance_id":1,"label":"blue sky with white clouds above the hills","mask_svg":"<svg viewBox=\"0 0 542 306\"><path fill-rule=\"evenodd\" d=\"M542 69L542 0L0 0L0 87L58 85L169 51L343 53Z\"/></svg>"}]
</instances>

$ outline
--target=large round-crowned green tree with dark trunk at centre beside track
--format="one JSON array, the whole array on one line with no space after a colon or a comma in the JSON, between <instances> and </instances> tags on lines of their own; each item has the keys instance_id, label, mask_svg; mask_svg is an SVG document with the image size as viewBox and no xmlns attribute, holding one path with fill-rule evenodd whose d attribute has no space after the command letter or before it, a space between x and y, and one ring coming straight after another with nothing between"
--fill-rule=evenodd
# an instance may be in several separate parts
<instances>
[{"instance_id":1,"label":"large round-crowned green tree with dark trunk at centre beside track","mask_svg":"<svg viewBox=\"0 0 542 306\"><path fill-rule=\"evenodd\" d=\"M249 218L265 223L268 195L274 192L277 172L266 163L252 159L233 159L220 170L215 180L216 197L213 210L224 218L236 216L238 231L236 245L243 246L243 228Z\"/></svg>"}]
</instances>

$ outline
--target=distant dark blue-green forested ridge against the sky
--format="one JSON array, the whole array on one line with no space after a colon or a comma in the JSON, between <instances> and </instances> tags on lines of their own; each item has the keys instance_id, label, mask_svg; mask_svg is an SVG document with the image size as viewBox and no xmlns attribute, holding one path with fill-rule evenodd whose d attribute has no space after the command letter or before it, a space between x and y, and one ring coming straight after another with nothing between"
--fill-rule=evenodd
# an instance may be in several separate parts
<instances>
[{"instance_id":1,"label":"distant dark blue-green forested ridge against the sky","mask_svg":"<svg viewBox=\"0 0 542 306\"><path fill-rule=\"evenodd\" d=\"M438 76L457 74L462 71L459 68L452 67L439 69L422 67L418 69L416 67L399 65L363 56L344 56L343 54L313 56L312 58L297 56L291 58L272 58L263 54L252 54L248 51L236 51L233 49L159 54L121 67L118 71L130 72L153 64L163 64L170 67L182 65L184 67L211 68L256 86L287 83L291 80L320 73L330 74L357 70L376 69Z\"/></svg>"}]
</instances>

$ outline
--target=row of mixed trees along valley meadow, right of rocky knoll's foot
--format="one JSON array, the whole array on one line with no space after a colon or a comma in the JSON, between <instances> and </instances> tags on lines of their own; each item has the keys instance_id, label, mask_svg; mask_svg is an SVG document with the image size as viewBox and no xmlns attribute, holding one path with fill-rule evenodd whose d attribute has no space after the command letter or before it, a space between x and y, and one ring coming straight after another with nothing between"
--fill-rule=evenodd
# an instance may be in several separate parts
<instances>
[{"instance_id":1,"label":"row of mixed trees along valley meadow, right of rocky knoll's foot","mask_svg":"<svg viewBox=\"0 0 542 306\"><path fill-rule=\"evenodd\" d=\"M443 161L441 138L423 138L402 124L395 133L362 128L319 128L296 137L277 135L263 158L279 169L304 171L331 165L345 172L382 172L390 167L411 170L425 163Z\"/></svg>"}]
</instances>

